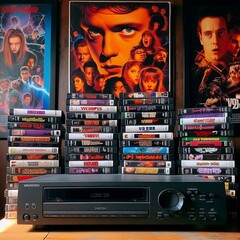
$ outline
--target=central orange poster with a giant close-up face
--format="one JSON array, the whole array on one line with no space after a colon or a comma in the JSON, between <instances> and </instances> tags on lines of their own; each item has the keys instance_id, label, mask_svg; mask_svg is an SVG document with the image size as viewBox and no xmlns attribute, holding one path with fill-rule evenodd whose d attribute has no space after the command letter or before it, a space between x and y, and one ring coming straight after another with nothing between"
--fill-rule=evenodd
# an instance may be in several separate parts
<instances>
[{"instance_id":1,"label":"central orange poster with a giant close-up face","mask_svg":"<svg viewBox=\"0 0 240 240\"><path fill-rule=\"evenodd\" d=\"M70 93L172 91L170 2L70 1L69 9Z\"/></svg>"}]
</instances>

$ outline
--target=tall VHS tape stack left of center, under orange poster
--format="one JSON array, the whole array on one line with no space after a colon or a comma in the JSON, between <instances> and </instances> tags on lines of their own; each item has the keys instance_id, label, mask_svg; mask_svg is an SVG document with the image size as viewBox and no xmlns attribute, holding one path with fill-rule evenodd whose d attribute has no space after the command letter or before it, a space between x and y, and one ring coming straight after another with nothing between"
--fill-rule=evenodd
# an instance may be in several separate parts
<instances>
[{"instance_id":1,"label":"tall VHS tape stack left of center, under orange poster","mask_svg":"<svg viewBox=\"0 0 240 240\"><path fill-rule=\"evenodd\" d=\"M116 173L118 109L112 94L68 93L65 173Z\"/></svg>"}]
</instances>

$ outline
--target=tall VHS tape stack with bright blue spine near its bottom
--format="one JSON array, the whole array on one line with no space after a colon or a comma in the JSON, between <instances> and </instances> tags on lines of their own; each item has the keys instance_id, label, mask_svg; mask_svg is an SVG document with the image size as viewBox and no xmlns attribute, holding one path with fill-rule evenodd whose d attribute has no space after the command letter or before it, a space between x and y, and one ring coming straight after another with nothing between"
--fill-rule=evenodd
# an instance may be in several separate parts
<instances>
[{"instance_id":1,"label":"tall VHS tape stack with bright blue spine near its bottom","mask_svg":"<svg viewBox=\"0 0 240 240\"><path fill-rule=\"evenodd\" d=\"M170 93L121 93L119 112L119 173L173 174L175 117Z\"/></svg>"}]
</instances>

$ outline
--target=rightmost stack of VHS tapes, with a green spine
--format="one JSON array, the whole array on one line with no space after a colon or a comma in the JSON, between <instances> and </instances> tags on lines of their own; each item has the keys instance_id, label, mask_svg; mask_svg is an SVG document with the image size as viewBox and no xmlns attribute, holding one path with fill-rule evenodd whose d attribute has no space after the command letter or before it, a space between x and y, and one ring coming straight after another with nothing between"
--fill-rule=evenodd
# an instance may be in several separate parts
<instances>
[{"instance_id":1,"label":"rightmost stack of VHS tapes, with a green spine","mask_svg":"<svg viewBox=\"0 0 240 240\"><path fill-rule=\"evenodd\" d=\"M231 108L178 110L179 174L195 174L225 182L229 202L236 206L237 168L232 140Z\"/></svg>"}]
</instances>

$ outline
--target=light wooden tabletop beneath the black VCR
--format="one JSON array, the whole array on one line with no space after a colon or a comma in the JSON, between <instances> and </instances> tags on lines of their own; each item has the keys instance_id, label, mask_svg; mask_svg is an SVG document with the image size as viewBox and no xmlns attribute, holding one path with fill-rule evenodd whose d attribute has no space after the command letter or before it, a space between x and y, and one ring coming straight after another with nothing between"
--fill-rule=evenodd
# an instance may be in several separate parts
<instances>
[{"instance_id":1,"label":"light wooden tabletop beneath the black VCR","mask_svg":"<svg viewBox=\"0 0 240 240\"><path fill-rule=\"evenodd\" d=\"M240 240L239 232L212 231L164 231L164 230L91 230L74 226L57 228L35 228L32 225L18 225L16 220L0 221L1 240ZM164 227L161 227L164 229Z\"/></svg>"}]
</instances>

